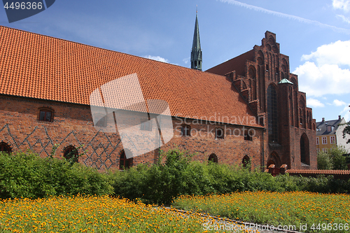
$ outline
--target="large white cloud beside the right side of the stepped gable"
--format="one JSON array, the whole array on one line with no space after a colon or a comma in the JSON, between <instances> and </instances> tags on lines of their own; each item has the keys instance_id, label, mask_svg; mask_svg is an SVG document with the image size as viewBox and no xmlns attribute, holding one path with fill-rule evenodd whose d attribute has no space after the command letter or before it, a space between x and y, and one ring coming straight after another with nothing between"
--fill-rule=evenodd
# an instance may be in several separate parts
<instances>
[{"instance_id":1,"label":"large white cloud beside the right side of the stepped gable","mask_svg":"<svg viewBox=\"0 0 350 233\"><path fill-rule=\"evenodd\" d=\"M350 93L350 41L337 41L302 55L306 61L293 71L299 76L302 92L321 97L325 94Z\"/></svg>"}]
</instances>

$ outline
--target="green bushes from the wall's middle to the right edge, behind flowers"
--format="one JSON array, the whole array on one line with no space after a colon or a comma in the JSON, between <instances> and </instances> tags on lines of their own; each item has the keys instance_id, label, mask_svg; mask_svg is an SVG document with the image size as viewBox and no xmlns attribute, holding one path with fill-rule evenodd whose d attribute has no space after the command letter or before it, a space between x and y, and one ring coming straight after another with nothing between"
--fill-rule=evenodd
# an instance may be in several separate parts
<instances>
[{"instance_id":1,"label":"green bushes from the wall's middle to the right edge, behind flowers","mask_svg":"<svg viewBox=\"0 0 350 233\"><path fill-rule=\"evenodd\" d=\"M244 191L309 191L350 192L349 181L332 176L306 178L251 171L249 168L191 161L192 155L180 150L163 153L153 165L139 164L125 171L115 171L113 188L116 195L129 199L141 199L147 203L170 204L179 195L207 195Z\"/></svg>"}]
</instances>

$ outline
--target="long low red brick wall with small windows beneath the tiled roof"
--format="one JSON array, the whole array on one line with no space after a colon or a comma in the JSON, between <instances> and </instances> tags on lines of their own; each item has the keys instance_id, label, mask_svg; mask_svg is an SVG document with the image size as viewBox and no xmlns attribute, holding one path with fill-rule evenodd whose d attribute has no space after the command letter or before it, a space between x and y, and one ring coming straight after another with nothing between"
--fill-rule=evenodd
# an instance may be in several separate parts
<instances>
[{"instance_id":1,"label":"long low red brick wall with small windows beneath the tiled roof","mask_svg":"<svg viewBox=\"0 0 350 233\"><path fill-rule=\"evenodd\" d=\"M42 107L55 111L53 122L38 120L38 109ZM253 167L260 166L261 129L252 129L252 134L255 134L253 141L246 141L241 126L211 125L198 120L186 122L190 122L192 136L181 136L181 132L175 129L174 138L162 146L162 150L188 150L190 153L196 153L193 160L200 161L207 161L209 155L215 153L219 163L227 164L240 164L244 155L248 155ZM175 128L181 126L181 123L183 118L173 118ZM216 127L225 129L224 139L215 139ZM250 128L244 128L245 131L247 129ZM201 134L196 135L196 132ZM86 153L79 158L79 162L102 170L118 168L120 153L123 150L118 133L98 132L94 128L90 106L6 95L0 95L0 141L8 143L13 151L29 148L41 157L49 156L54 144L59 144L55 157L62 157L66 146L84 145L79 153ZM133 164L153 163L157 157L158 150L153 150L134 157Z\"/></svg>"}]
</instances>

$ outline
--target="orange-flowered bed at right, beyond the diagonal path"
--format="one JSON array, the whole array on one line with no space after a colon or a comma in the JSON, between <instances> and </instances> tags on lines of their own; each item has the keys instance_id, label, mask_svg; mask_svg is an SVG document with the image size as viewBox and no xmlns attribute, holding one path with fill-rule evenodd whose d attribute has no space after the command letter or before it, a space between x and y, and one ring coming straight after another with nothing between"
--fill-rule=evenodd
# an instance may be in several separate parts
<instances>
[{"instance_id":1,"label":"orange-flowered bed at right, beyond the diagonal path","mask_svg":"<svg viewBox=\"0 0 350 233\"><path fill-rule=\"evenodd\" d=\"M349 232L350 196L343 194L235 192L181 196L173 206L262 225L295 225L302 232Z\"/></svg>"}]
</instances>

